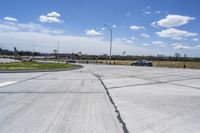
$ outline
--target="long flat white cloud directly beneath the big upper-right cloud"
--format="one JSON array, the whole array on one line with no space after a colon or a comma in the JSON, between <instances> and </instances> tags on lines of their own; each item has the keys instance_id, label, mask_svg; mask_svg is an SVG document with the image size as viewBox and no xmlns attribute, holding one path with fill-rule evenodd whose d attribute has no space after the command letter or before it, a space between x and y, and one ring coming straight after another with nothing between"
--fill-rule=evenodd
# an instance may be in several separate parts
<instances>
[{"instance_id":1,"label":"long flat white cloud directly beneath the big upper-right cloud","mask_svg":"<svg viewBox=\"0 0 200 133\"><path fill-rule=\"evenodd\" d=\"M175 28L162 30L161 32L156 32L156 34L159 37L172 38L172 39L194 37L198 35L197 33L191 33L188 31L178 30Z\"/></svg>"}]
</instances>

